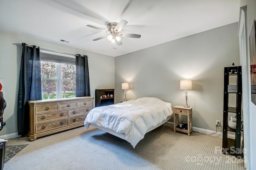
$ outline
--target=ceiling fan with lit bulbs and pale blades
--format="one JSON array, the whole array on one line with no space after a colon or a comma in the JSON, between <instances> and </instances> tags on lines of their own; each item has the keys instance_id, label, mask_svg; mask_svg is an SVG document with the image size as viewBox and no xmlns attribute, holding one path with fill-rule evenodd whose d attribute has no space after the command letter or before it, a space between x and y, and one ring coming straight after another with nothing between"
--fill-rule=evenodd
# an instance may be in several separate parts
<instances>
[{"instance_id":1,"label":"ceiling fan with lit bulbs and pale blades","mask_svg":"<svg viewBox=\"0 0 256 170\"><path fill-rule=\"evenodd\" d=\"M127 23L128 22L126 20L121 20L119 23L110 22L107 24L108 30L104 30L102 28L98 28L98 27L92 26L92 25L87 25L87 26L91 27L91 28L98 29L98 30L103 30L106 33L108 33L108 35L96 38L93 41L107 38L111 42L111 44L116 43L118 45L122 45L122 42L121 42L122 37L140 38L140 36L141 36L139 34L131 34L131 33L124 33L124 32L121 33L120 31L124 28L124 26L126 26Z\"/></svg>"}]
</instances>

